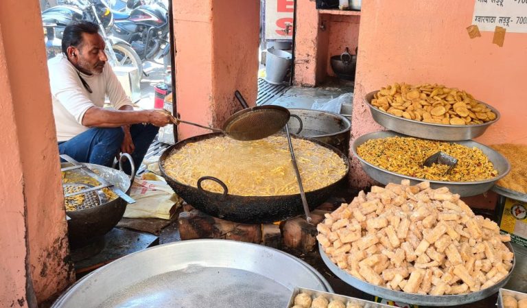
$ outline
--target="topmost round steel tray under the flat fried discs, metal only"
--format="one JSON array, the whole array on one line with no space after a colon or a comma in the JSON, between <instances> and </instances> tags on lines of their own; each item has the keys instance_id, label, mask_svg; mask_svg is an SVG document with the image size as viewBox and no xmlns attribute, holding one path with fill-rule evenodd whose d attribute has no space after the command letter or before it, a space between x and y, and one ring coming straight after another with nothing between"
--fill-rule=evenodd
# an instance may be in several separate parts
<instances>
[{"instance_id":1,"label":"topmost round steel tray under the flat fried discs, metal only","mask_svg":"<svg viewBox=\"0 0 527 308\"><path fill-rule=\"evenodd\" d=\"M480 104L489 107L489 109L496 114L496 119L476 125L446 125L409 120L403 117L390 115L388 112L384 112L373 106L371 100L373 99L373 95L377 92L379 91L373 91L366 94L366 97L364 97L364 102L370 107L371 115L375 122L388 128L388 130L400 132L401 134L406 134L412 137L441 141L470 140L481 136L492 123L495 123L500 119L500 112L489 104L478 101Z\"/></svg>"}]
</instances>

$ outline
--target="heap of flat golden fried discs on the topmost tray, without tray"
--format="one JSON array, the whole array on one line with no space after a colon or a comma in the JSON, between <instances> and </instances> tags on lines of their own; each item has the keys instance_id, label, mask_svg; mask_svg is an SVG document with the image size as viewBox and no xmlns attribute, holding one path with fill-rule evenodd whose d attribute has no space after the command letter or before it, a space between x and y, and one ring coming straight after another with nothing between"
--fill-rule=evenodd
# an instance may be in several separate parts
<instances>
[{"instance_id":1,"label":"heap of flat golden fried discs on the topmost tray, without tray","mask_svg":"<svg viewBox=\"0 0 527 308\"><path fill-rule=\"evenodd\" d=\"M388 85L371 104L396 117L446 125L475 125L496 119L496 114L465 91L438 84Z\"/></svg>"}]
</instances>

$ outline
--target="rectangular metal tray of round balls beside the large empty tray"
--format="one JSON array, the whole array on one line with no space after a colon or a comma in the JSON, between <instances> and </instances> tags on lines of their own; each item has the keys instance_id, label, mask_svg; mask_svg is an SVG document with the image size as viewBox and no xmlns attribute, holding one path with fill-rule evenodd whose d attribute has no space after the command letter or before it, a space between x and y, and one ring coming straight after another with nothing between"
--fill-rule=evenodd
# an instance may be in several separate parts
<instances>
[{"instance_id":1,"label":"rectangular metal tray of round balls beside the large empty tray","mask_svg":"<svg viewBox=\"0 0 527 308\"><path fill-rule=\"evenodd\" d=\"M295 287L287 308L391 308L349 296Z\"/></svg>"}]
</instances>

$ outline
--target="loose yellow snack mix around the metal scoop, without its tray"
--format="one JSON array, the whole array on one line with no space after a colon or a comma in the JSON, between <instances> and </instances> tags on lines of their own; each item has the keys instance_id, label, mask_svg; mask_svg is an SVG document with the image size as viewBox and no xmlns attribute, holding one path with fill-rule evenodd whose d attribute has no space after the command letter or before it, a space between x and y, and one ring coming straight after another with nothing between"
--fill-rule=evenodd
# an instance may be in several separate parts
<instances>
[{"instance_id":1,"label":"loose yellow snack mix around the metal scoop, without its tray","mask_svg":"<svg viewBox=\"0 0 527 308\"><path fill-rule=\"evenodd\" d=\"M458 159L458 164L449 174L445 175L447 165L434 164L432 167L423 167L426 158L439 151ZM411 137L389 137L368 140L358 147L357 152L368 163L414 178L475 182L497 176L494 165L482 150L456 143Z\"/></svg>"}]
</instances>

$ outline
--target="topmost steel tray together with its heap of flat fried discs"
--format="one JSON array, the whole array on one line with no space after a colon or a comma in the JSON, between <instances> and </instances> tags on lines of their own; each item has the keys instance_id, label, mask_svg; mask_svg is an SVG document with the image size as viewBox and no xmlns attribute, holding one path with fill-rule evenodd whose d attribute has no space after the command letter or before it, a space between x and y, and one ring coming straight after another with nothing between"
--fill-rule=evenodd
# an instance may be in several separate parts
<instances>
[{"instance_id":1,"label":"topmost steel tray together with its heap of flat fried discs","mask_svg":"<svg viewBox=\"0 0 527 308\"><path fill-rule=\"evenodd\" d=\"M364 102L380 125L412 137L461 141L481 136L500 112L457 88L438 84L391 84Z\"/></svg>"}]
</instances>

